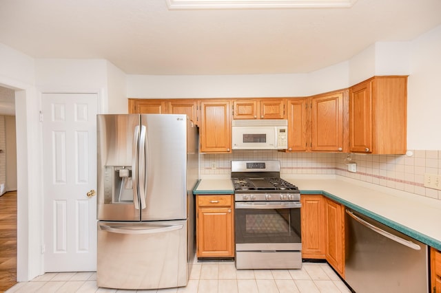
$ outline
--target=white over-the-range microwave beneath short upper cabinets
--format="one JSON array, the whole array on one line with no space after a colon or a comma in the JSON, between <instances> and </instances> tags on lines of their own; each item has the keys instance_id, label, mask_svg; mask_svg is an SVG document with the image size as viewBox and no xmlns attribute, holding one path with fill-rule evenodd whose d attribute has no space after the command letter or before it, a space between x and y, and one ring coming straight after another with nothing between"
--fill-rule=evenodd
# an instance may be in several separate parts
<instances>
[{"instance_id":1,"label":"white over-the-range microwave beneath short upper cabinets","mask_svg":"<svg viewBox=\"0 0 441 293\"><path fill-rule=\"evenodd\" d=\"M232 149L287 149L288 120L233 120Z\"/></svg>"}]
</instances>

